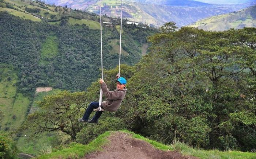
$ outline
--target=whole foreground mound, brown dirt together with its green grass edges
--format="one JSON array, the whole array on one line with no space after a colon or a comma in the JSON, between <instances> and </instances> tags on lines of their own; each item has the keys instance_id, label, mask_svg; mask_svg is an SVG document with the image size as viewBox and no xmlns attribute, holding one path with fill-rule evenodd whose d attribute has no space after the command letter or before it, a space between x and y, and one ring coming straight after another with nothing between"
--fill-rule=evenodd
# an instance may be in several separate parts
<instances>
[{"instance_id":1,"label":"whole foreground mound, brown dirt together with its green grass edges","mask_svg":"<svg viewBox=\"0 0 256 159\"><path fill-rule=\"evenodd\" d=\"M191 148L184 143L176 142L170 146L129 131L105 132L87 145L75 144L70 148L42 155L48 158L147 158L147 159L198 159L198 158L234 158L253 159L254 153L239 151L203 151Z\"/></svg>"}]
</instances>

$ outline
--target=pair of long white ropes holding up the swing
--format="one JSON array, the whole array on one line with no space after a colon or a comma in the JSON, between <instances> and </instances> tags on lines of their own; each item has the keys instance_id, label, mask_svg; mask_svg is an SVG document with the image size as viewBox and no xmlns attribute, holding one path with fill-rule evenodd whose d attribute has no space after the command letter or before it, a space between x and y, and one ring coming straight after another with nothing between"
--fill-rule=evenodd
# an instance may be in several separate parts
<instances>
[{"instance_id":1,"label":"pair of long white ropes holding up the swing","mask_svg":"<svg viewBox=\"0 0 256 159\"><path fill-rule=\"evenodd\" d=\"M101 0L99 0L99 14L100 14L100 23L101 23ZM120 63L121 63L121 39L122 39L122 19L123 19L123 0L121 0L121 25L120 25L120 48L119 48L119 71L120 76ZM103 80L103 58L102 58L102 23L101 23L101 79ZM102 89L99 93L99 111L102 110Z\"/></svg>"}]
</instances>

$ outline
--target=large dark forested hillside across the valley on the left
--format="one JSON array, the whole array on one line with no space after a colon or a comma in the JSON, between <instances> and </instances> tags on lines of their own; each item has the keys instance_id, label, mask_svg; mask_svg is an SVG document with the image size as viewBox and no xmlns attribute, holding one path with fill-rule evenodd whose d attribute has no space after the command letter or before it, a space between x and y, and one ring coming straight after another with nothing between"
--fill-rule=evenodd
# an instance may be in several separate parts
<instances>
[{"instance_id":1,"label":"large dark forested hillside across the valley on the left","mask_svg":"<svg viewBox=\"0 0 256 159\"><path fill-rule=\"evenodd\" d=\"M111 69L119 62L120 20L102 18L112 22L103 25L103 65ZM123 24L121 63L135 65L147 52L147 36L157 30ZM93 13L39 1L0 0L0 132L16 131L45 96L84 91L99 77L99 28L99 16ZM38 87L53 90L36 93ZM59 142L58 133L43 133L38 140L25 135L15 137L17 147L33 155L43 143Z\"/></svg>"}]
</instances>

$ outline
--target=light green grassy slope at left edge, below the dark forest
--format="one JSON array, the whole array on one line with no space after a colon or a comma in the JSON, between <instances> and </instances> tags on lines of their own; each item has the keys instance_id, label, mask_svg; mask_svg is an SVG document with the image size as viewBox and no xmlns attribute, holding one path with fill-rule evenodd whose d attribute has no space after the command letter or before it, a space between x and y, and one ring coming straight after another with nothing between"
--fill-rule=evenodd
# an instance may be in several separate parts
<instances>
[{"instance_id":1,"label":"light green grassy slope at left edge, below the dark forest","mask_svg":"<svg viewBox=\"0 0 256 159\"><path fill-rule=\"evenodd\" d=\"M5 115L1 128L17 128L26 117L30 100L16 92L18 76L12 66L0 65L0 73L0 109Z\"/></svg>"}]
</instances>

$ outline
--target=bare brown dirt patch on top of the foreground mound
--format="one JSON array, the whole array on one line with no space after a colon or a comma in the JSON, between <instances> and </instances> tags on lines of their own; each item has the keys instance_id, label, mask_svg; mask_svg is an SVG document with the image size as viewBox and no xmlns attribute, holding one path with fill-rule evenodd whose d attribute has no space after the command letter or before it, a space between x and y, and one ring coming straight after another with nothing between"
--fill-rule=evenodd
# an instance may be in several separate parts
<instances>
[{"instance_id":1,"label":"bare brown dirt patch on top of the foreground mound","mask_svg":"<svg viewBox=\"0 0 256 159\"><path fill-rule=\"evenodd\" d=\"M178 152L157 150L123 132L116 132L108 139L110 143L103 146L104 151L88 154L84 159L197 159Z\"/></svg>"}]
</instances>

